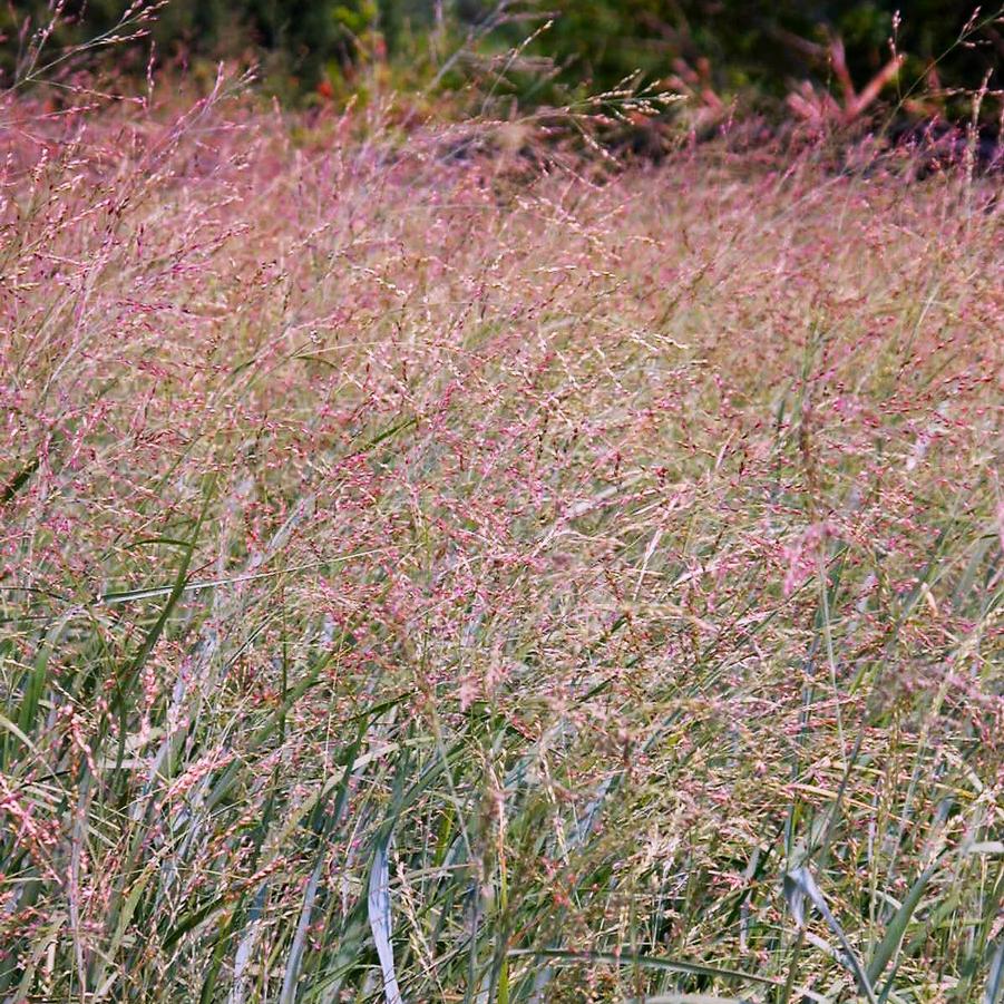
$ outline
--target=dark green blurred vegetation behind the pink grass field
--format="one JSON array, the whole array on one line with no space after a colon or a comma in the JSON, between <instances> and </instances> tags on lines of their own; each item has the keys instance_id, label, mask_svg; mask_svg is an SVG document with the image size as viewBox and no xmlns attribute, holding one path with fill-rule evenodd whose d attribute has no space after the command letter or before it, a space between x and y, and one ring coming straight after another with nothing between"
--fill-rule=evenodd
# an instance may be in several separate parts
<instances>
[{"instance_id":1,"label":"dark green blurred vegetation behind the pink grass field","mask_svg":"<svg viewBox=\"0 0 1004 1004\"><path fill-rule=\"evenodd\" d=\"M108 29L125 9L118 0L59 7L56 45ZM0 12L9 77L25 25L38 28L51 12L45 0ZM856 86L879 74L895 47L905 62L887 80L887 95L916 92L922 84L935 101L929 110L952 114L964 111L953 95L977 89L1004 53L1004 29L992 9L977 12L949 0L170 0L157 13L153 37L162 60L261 60L272 89L302 95L322 81L344 94L358 89L360 68L373 61L389 65L400 86L433 78L457 84L462 62L454 75L439 71L465 40L476 37L471 55L490 59L535 31L518 59L504 60L505 79L494 81L498 94L553 101L569 91L608 89L641 70L649 81L683 79L725 100L741 96L769 107L793 81L839 91L832 49L839 41ZM134 69L144 70L145 55L134 59Z\"/></svg>"}]
</instances>

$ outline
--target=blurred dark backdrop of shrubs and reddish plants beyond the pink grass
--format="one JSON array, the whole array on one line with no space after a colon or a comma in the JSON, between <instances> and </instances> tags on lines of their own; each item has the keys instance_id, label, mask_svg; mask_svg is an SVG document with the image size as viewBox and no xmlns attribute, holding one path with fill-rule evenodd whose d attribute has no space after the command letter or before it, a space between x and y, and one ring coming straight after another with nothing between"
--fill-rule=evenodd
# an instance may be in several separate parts
<instances>
[{"instance_id":1,"label":"blurred dark backdrop of shrubs and reddish plants beyond the pink grass","mask_svg":"<svg viewBox=\"0 0 1004 1004\"><path fill-rule=\"evenodd\" d=\"M374 87L457 94L488 79L493 99L559 104L640 72L708 117L742 110L854 118L876 101L905 116L1001 115L998 7L953 0L19 0L0 8L3 86L106 33L140 31L114 68L150 60L189 77L216 60L255 66L298 103L363 99ZM124 28L116 28L125 16ZM91 68L104 45L85 55ZM45 64L45 60L36 60ZM72 60L67 60L71 64ZM69 71L69 68L66 69ZM28 75L30 76L30 75ZM859 107L860 106L860 107Z\"/></svg>"}]
</instances>

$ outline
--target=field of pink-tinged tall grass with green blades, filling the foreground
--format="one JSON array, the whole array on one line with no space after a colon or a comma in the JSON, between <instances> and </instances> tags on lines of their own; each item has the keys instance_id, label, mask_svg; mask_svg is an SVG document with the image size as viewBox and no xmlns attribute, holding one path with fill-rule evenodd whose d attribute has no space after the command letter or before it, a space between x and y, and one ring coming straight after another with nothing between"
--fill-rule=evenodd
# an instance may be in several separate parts
<instances>
[{"instance_id":1,"label":"field of pink-tinged tall grass with green blades, filling the foreground","mask_svg":"<svg viewBox=\"0 0 1004 1004\"><path fill-rule=\"evenodd\" d=\"M0 1000L1002 1000L1000 177L4 115Z\"/></svg>"}]
</instances>

